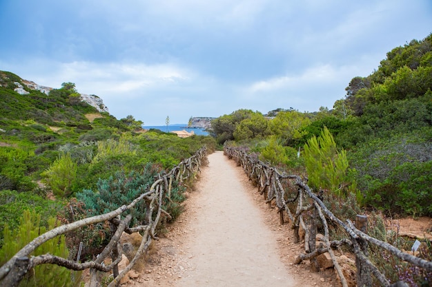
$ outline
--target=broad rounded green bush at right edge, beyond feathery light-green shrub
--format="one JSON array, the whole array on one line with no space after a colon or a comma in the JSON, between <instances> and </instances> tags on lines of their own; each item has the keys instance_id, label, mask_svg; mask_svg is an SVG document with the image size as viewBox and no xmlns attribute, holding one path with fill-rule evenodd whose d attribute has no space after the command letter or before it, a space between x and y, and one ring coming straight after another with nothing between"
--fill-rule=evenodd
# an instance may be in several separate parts
<instances>
[{"instance_id":1,"label":"broad rounded green bush at right edge, beyond feathery light-green shrub","mask_svg":"<svg viewBox=\"0 0 432 287\"><path fill-rule=\"evenodd\" d=\"M386 213L431 215L432 145L424 132L382 138L350 154L364 204Z\"/></svg>"}]
</instances>

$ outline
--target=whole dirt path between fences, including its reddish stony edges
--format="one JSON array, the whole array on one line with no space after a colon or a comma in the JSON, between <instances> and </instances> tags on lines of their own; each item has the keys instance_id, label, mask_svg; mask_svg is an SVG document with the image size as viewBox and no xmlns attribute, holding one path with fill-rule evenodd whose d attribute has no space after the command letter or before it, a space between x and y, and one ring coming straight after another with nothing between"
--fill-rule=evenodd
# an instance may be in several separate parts
<instances>
[{"instance_id":1,"label":"whole dirt path between fences, including its reddish stony edges","mask_svg":"<svg viewBox=\"0 0 432 287\"><path fill-rule=\"evenodd\" d=\"M150 251L139 278L128 286L333 286L333 273L293 265L302 253L288 224L248 182L235 162L208 157L185 212ZM259 195L259 196L258 196ZM269 227L270 226L270 227ZM335 285L337 286L337 284Z\"/></svg>"}]
</instances>

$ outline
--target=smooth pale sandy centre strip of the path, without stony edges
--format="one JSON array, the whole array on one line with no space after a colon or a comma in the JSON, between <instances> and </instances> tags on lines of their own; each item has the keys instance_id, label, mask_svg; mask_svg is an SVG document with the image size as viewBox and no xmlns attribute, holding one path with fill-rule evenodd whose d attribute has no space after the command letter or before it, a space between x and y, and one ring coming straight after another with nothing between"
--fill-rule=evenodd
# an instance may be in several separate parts
<instances>
[{"instance_id":1,"label":"smooth pale sandy centre strip of the path, without stony edges","mask_svg":"<svg viewBox=\"0 0 432 287\"><path fill-rule=\"evenodd\" d=\"M293 286L259 209L222 152L208 157L199 190L199 217L186 244L192 268L177 286Z\"/></svg>"}]
</instances>

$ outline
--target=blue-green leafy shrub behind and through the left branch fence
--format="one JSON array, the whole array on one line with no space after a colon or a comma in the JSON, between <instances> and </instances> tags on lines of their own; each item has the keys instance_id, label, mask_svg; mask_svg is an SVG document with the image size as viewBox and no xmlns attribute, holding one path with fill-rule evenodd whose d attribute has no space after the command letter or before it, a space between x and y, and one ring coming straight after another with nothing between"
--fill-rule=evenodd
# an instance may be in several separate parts
<instances>
[{"instance_id":1,"label":"blue-green leafy shrub behind and through the left branch fence","mask_svg":"<svg viewBox=\"0 0 432 287\"><path fill-rule=\"evenodd\" d=\"M76 200L70 202L70 207L75 210L75 215L69 220L77 220L77 218L90 217L109 211L118 209L124 204L130 204L141 193L150 189L151 184L155 181L155 176L161 173L160 167L155 164L146 164L141 171L117 171L113 176L106 179L99 179L97 189L85 189L77 193ZM186 188L173 182L170 191L170 199L164 198L164 210L171 215L171 220L181 212L181 202L184 201L184 191ZM130 226L146 225L148 210L144 201L138 202L134 208L126 211L123 215L131 214L132 220ZM85 242L87 249L84 255L94 255L100 246L108 243L110 239L110 226L106 224L96 224L75 231L71 236L71 240L75 240L75 244Z\"/></svg>"}]
</instances>

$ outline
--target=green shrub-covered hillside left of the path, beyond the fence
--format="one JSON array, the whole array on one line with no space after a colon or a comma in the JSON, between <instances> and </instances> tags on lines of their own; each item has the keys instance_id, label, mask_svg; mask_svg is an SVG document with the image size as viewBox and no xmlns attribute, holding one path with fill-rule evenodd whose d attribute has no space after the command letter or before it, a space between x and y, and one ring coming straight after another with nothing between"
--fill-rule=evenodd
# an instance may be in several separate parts
<instances>
[{"instance_id":1,"label":"green shrub-covered hillside left of the path, beyond the fence","mask_svg":"<svg viewBox=\"0 0 432 287\"><path fill-rule=\"evenodd\" d=\"M17 87L28 94L18 94ZM73 83L47 95L15 74L0 72L0 103L1 230L5 224L17 228L26 209L46 219L75 202L77 193L98 196L99 180L140 174L148 164L168 170L204 145L215 148L210 137L144 132L133 116L117 120L99 113L81 101Z\"/></svg>"}]
</instances>

